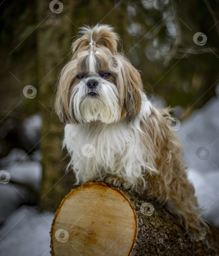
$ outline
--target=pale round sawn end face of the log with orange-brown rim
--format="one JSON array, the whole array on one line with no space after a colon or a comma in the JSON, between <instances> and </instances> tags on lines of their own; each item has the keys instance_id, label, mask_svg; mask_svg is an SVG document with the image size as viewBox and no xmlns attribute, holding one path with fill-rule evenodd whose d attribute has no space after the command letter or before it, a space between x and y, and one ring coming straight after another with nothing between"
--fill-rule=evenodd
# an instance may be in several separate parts
<instances>
[{"instance_id":1,"label":"pale round sawn end face of the log with orange-brown rim","mask_svg":"<svg viewBox=\"0 0 219 256\"><path fill-rule=\"evenodd\" d=\"M72 189L51 230L52 255L129 255L137 220L127 196L102 183Z\"/></svg>"}]
</instances>

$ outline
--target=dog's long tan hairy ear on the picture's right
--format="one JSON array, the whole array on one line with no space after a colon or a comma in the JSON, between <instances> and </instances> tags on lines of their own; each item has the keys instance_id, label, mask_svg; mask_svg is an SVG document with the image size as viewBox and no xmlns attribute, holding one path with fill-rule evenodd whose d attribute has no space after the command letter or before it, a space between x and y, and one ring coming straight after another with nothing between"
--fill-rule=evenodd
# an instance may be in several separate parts
<instances>
[{"instance_id":1,"label":"dog's long tan hairy ear on the picture's right","mask_svg":"<svg viewBox=\"0 0 219 256\"><path fill-rule=\"evenodd\" d=\"M121 54L114 54L112 69L116 74L116 86L120 95L121 119L126 117L131 120L141 108L141 76Z\"/></svg>"}]
</instances>

